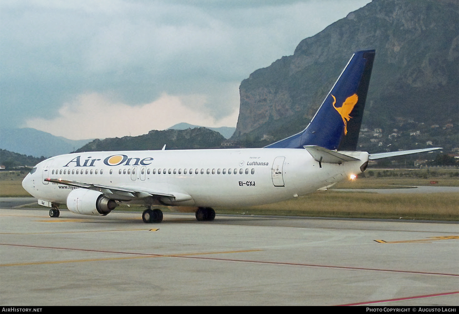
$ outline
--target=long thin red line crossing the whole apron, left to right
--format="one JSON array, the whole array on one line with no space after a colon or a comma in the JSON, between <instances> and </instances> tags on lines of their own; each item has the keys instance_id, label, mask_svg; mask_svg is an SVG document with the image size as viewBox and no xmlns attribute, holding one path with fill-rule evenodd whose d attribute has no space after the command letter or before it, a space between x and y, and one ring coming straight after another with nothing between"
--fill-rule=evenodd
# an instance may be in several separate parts
<instances>
[{"instance_id":1,"label":"long thin red line crossing the whole apron, left to right","mask_svg":"<svg viewBox=\"0 0 459 314\"><path fill-rule=\"evenodd\" d=\"M152 254L152 253L134 253L134 252L102 251L102 250L78 249L78 248L68 248L68 247L42 247L42 246L22 245L22 244L7 244L7 243L0 243L0 245L7 245L7 246L11 246L11 247L34 247L34 248L55 249L55 250L70 250L70 251L83 251L83 252L100 252L100 253L114 253L114 254L131 254L131 255L156 256L156 257L194 258L194 259L206 259L206 260L225 261L225 262L257 263L257 264L287 265L287 266L306 266L306 267L319 267L319 268L335 268L335 269L350 269L350 270L368 270L368 271L381 271L381 272L404 273L404 274L442 275L442 276L455 276L455 277L459 277L459 274L431 273L431 272L424 272L424 271L409 271L409 270L395 270L395 269L377 269L377 268L348 267L348 266L330 266L330 265L301 264L301 263L286 263L286 262L264 262L264 261L254 261L254 260L250 260L250 259L230 259L230 258L210 258L210 257L203 257L203 256L186 256L186 253L184 253L183 255L176 255L176 254ZM190 253L190 255L191 255L191 254L192 254L192 253Z\"/></svg>"}]
</instances>

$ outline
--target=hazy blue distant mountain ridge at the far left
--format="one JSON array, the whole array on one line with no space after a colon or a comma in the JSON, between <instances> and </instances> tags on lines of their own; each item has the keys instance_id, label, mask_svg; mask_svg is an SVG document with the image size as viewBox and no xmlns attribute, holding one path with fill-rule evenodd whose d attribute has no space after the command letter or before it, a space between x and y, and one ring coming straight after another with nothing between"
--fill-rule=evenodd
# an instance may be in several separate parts
<instances>
[{"instance_id":1,"label":"hazy blue distant mountain ridge at the far left","mask_svg":"<svg viewBox=\"0 0 459 314\"><path fill-rule=\"evenodd\" d=\"M67 154L91 140L69 140L31 128L0 129L0 148L34 157Z\"/></svg>"}]
</instances>

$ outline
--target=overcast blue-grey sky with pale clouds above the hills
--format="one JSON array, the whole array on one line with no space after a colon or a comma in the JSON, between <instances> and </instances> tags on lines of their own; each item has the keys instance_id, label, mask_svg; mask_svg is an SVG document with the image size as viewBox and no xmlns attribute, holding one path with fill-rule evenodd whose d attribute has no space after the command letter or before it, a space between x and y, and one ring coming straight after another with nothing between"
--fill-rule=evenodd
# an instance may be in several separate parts
<instances>
[{"instance_id":1,"label":"overcast blue-grey sky with pale clouds above the hills","mask_svg":"<svg viewBox=\"0 0 459 314\"><path fill-rule=\"evenodd\" d=\"M0 127L235 127L239 85L370 0L1 0Z\"/></svg>"}]
</instances>

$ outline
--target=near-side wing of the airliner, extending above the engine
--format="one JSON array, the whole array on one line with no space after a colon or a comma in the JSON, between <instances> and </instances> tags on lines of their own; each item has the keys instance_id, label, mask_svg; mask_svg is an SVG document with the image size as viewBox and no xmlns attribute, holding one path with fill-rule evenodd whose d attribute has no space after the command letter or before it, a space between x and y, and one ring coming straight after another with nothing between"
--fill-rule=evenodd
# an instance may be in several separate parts
<instances>
[{"instance_id":1,"label":"near-side wing of the airliner, extending above the engine","mask_svg":"<svg viewBox=\"0 0 459 314\"><path fill-rule=\"evenodd\" d=\"M45 179L45 181L53 182L62 185L75 186L78 188L84 188L89 190L95 190L102 192L106 197L113 200L129 201L133 199L140 199L145 197L155 197L160 199L166 199L169 202L183 202L191 200L192 197L185 193L164 193L161 191L149 191L146 189L140 190L131 188L129 186L110 186L110 185L99 185L89 184L84 182L69 181L63 179Z\"/></svg>"}]
</instances>

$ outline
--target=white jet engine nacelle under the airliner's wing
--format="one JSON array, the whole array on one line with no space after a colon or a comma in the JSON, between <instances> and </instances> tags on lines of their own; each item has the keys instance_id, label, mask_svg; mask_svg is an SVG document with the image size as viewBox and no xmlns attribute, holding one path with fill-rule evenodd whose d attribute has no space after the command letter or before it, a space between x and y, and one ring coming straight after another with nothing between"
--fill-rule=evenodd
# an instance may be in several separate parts
<instances>
[{"instance_id":1,"label":"white jet engine nacelle under the airliner's wing","mask_svg":"<svg viewBox=\"0 0 459 314\"><path fill-rule=\"evenodd\" d=\"M72 213L82 215L106 216L118 204L104 196L102 192L76 189L67 196L67 208Z\"/></svg>"}]
</instances>

